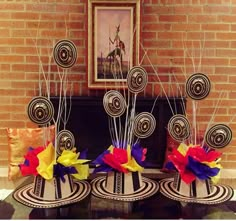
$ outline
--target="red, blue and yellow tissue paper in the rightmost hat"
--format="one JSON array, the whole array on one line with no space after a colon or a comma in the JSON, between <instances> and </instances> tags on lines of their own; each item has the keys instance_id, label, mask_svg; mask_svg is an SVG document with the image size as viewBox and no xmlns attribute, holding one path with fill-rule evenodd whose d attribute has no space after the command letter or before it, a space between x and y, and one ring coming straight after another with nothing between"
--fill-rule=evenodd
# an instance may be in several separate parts
<instances>
[{"instance_id":1,"label":"red, blue and yellow tissue paper in the rightmost hat","mask_svg":"<svg viewBox=\"0 0 236 221\"><path fill-rule=\"evenodd\" d=\"M222 153L200 145L185 145L181 143L177 149L173 149L168 156L167 169L175 169L181 179L189 184L196 178L201 180L211 179L213 183L219 180L220 156Z\"/></svg>"}]
</instances>

